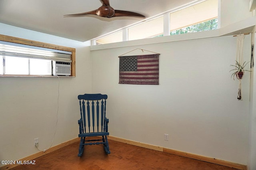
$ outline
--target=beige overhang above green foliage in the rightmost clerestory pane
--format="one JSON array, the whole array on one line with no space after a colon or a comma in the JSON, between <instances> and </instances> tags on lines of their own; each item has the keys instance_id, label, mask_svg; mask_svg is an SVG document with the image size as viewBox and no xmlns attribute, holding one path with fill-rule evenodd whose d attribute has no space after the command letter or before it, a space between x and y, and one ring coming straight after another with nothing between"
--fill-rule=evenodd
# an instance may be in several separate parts
<instances>
[{"instance_id":1,"label":"beige overhang above green foliage in the rightmost clerestory pane","mask_svg":"<svg viewBox=\"0 0 256 170\"><path fill-rule=\"evenodd\" d=\"M218 17L218 0L199 4L170 13L170 31L212 20Z\"/></svg>"}]
</instances>

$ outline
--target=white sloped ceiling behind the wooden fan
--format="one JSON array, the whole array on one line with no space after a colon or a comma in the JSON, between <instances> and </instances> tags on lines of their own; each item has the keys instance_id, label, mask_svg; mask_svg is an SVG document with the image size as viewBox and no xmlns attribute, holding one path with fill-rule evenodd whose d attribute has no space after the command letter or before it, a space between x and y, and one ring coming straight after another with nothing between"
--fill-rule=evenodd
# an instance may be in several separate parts
<instances>
[{"instance_id":1,"label":"white sloped ceiling behind the wooden fan","mask_svg":"<svg viewBox=\"0 0 256 170\"><path fill-rule=\"evenodd\" d=\"M150 18L195 0L110 0L115 10L137 12ZM0 0L0 22L85 42L139 22L134 17L70 17L95 10L100 0Z\"/></svg>"}]
</instances>

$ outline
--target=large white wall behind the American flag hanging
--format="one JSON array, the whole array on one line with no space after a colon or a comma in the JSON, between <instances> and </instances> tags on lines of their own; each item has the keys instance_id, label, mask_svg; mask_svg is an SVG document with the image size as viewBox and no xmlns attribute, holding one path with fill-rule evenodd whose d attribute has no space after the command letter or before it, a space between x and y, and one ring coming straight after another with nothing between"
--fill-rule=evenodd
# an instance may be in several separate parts
<instances>
[{"instance_id":1,"label":"large white wall behind the American flag hanging","mask_svg":"<svg viewBox=\"0 0 256 170\"><path fill-rule=\"evenodd\" d=\"M108 94L111 136L247 164L249 74L237 101L238 81L229 73L236 38L115 46L91 51L92 92ZM118 55L136 48L160 53L160 85L118 84ZM249 56L247 36L244 60Z\"/></svg>"}]
</instances>

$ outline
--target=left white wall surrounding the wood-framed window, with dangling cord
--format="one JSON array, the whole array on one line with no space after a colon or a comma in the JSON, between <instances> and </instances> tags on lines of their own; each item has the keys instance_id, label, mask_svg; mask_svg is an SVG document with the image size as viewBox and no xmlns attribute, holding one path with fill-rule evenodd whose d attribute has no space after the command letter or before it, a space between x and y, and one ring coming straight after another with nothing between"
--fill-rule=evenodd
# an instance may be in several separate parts
<instances>
[{"instance_id":1,"label":"left white wall surrounding the wood-framed window, with dangling cord","mask_svg":"<svg viewBox=\"0 0 256 170\"><path fill-rule=\"evenodd\" d=\"M77 95L91 92L88 43L0 24L0 34L76 48L76 77L0 77L0 160L18 160L78 136ZM86 47L87 46L87 47ZM58 101L58 85L59 101ZM58 109L59 103L59 109ZM57 121L58 110L58 125Z\"/></svg>"}]
</instances>

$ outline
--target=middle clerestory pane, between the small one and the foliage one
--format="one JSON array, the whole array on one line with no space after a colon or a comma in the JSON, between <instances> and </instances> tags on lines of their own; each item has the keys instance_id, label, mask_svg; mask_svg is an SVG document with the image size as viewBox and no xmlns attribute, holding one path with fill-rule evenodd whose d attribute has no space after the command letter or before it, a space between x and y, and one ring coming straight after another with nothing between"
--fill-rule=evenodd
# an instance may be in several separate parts
<instances>
[{"instance_id":1,"label":"middle clerestory pane, between the small one and the foliage one","mask_svg":"<svg viewBox=\"0 0 256 170\"><path fill-rule=\"evenodd\" d=\"M128 40L151 38L164 33L164 17L144 22L128 29Z\"/></svg>"}]
</instances>

